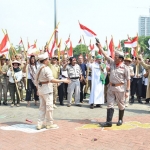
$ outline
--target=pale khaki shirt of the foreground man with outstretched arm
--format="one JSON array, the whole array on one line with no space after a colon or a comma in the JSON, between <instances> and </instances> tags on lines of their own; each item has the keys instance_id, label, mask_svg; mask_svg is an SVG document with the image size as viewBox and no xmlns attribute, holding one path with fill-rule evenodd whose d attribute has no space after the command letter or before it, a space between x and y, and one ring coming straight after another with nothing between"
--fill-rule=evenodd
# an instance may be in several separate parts
<instances>
[{"instance_id":1,"label":"pale khaki shirt of the foreground man with outstretched arm","mask_svg":"<svg viewBox=\"0 0 150 150\"><path fill-rule=\"evenodd\" d=\"M48 93L53 92L53 84L52 83L43 84L42 86L39 85L40 82L47 82L47 81L51 81L52 79L54 79L52 71L49 68L49 66L45 66L44 68L42 68L42 70L39 74L39 78L37 79L37 75L40 71L40 68L43 67L43 66L45 66L45 65L42 64L37 69L37 72L36 72L36 75L35 75L35 85L38 89L39 95L48 94Z\"/></svg>"}]
</instances>

